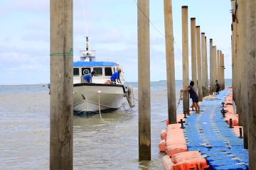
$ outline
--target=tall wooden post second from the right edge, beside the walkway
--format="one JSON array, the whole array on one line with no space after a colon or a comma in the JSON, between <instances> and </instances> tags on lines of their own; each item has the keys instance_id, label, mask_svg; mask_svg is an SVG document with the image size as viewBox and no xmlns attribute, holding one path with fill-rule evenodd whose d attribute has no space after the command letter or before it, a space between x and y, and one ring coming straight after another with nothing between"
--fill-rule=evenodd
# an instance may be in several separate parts
<instances>
[{"instance_id":1,"label":"tall wooden post second from the right edge, beside the walkway","mask_svg":"<svg viewBox=\"0 0 256 170\"><path fill-rule=\"evenodd\" d=\"M248 93L247 84L247 1L238 0L238 35L239 35L239 50L238 56L240 58L240 113L239 125L243 127L244 147L248 149Z\"/></svg>"}]
</instances>

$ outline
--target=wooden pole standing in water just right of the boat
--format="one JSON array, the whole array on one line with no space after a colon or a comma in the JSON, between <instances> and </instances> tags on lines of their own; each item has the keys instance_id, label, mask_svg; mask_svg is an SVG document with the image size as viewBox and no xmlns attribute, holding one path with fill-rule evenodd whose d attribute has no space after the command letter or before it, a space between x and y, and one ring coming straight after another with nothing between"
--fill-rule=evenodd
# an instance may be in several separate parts
<instances>
[{"instance_id":1,"label":"wooden pole standing in water just right of the boat","mask_svg":"<svg viewBox=\"0 0 256 170\"><path fill-rule=\"evenodd\" d=\"M139 161L151 160L149 0L138 0Z\"/></svg>"}]
</instances>

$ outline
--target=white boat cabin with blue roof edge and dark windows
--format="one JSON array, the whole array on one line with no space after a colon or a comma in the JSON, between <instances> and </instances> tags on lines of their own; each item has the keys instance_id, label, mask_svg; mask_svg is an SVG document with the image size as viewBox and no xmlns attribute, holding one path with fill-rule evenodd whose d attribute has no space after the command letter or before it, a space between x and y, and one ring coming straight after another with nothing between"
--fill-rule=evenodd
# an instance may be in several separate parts
<instances>
[{"instance_id":1,"label":"white boat cabin with blue roof edge and dark windows","mask_svg":"<svg viewBox=\"0 0 256 170\"><path fill-rule=\"evenodd\" d=\"M88 74L92 71L95 71L96 74L92 77L92 83L96 84L105 84L106 81L110 80L110 77L114 72L117 72L117 69L121 68L115 62L74 62L73 65L73 84L80 84L83 82L83 77L85 74ZM120 74L120 79L122 83L123 72Z\"/></svg>"}]
</instances>

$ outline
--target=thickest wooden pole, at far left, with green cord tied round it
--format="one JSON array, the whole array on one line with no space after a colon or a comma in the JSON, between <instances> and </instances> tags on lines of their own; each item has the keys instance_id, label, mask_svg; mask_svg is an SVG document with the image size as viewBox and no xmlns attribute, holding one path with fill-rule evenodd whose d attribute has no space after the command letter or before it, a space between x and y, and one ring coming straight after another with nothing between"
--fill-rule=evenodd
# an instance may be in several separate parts
<instances>
[{"instance_id":1,"label":"thickest wooden pole, at far left, with green cord tied round it","mask_svg":"<svg viewBox=\"0 0 256 170\"><path fill-rule=\"evenodd\" d=\"M50 1L50 169L73 169L73 0Z\"/></svg>"}]
</instances>

